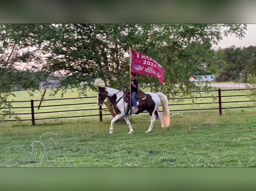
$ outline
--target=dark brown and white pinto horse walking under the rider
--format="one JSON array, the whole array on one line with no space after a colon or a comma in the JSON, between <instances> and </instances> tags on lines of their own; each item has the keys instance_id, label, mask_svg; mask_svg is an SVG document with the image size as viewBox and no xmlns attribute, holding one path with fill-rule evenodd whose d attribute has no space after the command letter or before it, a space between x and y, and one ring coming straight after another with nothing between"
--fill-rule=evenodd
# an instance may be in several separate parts
<instances>
[{"instance_id":1,"label":"dark brown and white pinto horse walking under the rider","mask_svg":"<svg viewBox=\"0 0 256 191\"><path fill-rule=\"evenodd\" d=\"M117 115L111 120L111 125L109 129L109 133L113 133L114 130L114 123L116 120L123 117L126 120L127 125L129 126L129 133L133 133L133 128L131 126L130 120L129 120L129 106L128 103L124 101L124 95L125 93L113 88L109 87L99 87L98 92L98 99L97 103L99 106L102 106L106 101L107 98L111 101L111 103L114 105L114 110L117 113ZM139 111L136 114L139 114L145 110L149 112L150 118L151 118L151 124L148 128L146 133L149 133L152 131L154 122L155 122L155 116L161 120L161 127L167 128L170 125L170 112L168 108L168 99L167 97L161 93L151 93L151 92L145 92L146 99L141 100L140 104L137 101L138 109ZM163 108L163 115L159 113L158 107L162 104Z\"/></svg>"}]
</instances>

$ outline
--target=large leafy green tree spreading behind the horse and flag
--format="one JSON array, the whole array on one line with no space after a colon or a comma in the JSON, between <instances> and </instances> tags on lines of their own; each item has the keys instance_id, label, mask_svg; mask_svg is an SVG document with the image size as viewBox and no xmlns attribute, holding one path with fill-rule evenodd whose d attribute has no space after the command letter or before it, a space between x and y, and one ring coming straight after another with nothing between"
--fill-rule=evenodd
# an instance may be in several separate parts
<instances>
[{"instance_id":1,"label":"large leafy green tree spreading behind the horse and flag","mask_svg":"<svg viewBox=\"0 0 256 191\"><path fill-rule=\"evenodd\" d=\"M65 76L57 91L77 88L86 95L96 91L93 79L100 77L105 86L121 89L129 82L129 47L156 60L166 70L165 83L156 78L139 76L140 88L161 91L175 97L178 91L191 95L188 79L197 71L216 72L212 44L225 36L242 38L246 25L239 24L56 24L1 25L9 42L25 51L22 61L42 59L34 64L45 74ZM15 45L15 46L17 46ZM9 43L8 48L11 48ZM36 53L41 57L36 57ZM84 82L81 84L81 82ZM176 88L175 85L179 87ZM207 87L205 87L207 90ZM111 105L109 105L110 111ZM114 113L113 113L114 115Z\"/></svg>"}]
</instances>

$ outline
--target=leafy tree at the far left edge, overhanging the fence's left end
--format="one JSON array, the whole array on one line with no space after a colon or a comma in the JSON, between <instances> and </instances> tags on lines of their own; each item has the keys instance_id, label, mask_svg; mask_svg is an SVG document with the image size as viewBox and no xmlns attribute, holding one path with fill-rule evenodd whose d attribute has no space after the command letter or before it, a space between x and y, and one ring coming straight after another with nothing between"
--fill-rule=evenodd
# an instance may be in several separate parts
<instances>
[{"instance_id":1,"label":"leafy tree at the far left edge, overhanging the fence's left end","mask_svg":"<svg viewBox=\"0 0 256 191\"><path fill-rule=\"evenodd\" d=\"M30 63L37 64L41 58L32 48L36 42L36 31L40 25L0 25L0 115L1 119L13 116L12 106L8 101L15 87L26 90L38 89L38 82L44 80L47 74L36 71ZM22 67L26 64L27 67ZM31 93L31 92L29 92ZM18 118L16 116L16 118Z\"/></svg>"}]
</instances>

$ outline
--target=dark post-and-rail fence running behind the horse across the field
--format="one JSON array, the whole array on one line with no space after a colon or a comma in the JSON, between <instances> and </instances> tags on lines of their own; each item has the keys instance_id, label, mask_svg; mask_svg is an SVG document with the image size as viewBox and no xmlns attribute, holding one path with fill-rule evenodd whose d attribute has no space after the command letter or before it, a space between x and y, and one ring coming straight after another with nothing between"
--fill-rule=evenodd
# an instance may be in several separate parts
<instances>
[{"instance_id":1,"label":"dark post-and-rail fence running behind the horse across the field","mask_svg":"<svg viewBox=\"0 0 256 191\"><path fill-rule=\"evenodd\" d=\"M233 90L213 90L211 92L218 92L217 98L218 101L215 102L203 102L203 103L194 103L194 104L213 104L213 103L218 103L218 107L216 108L197 108L197 109L175 109L175 110L169 110L169 111L189 111L189 110L219 110L219 114L222 115L222 110L223 109L234 109L234 108L251 108L253 106L241 106L241 107L222 107L222 103L236 103L236 102L252 102L253 100L240 100L240 101L222 101L222 97L235 97L235 96L247 96L247 95L221 95L221 92L226 92L226 91L242 91L242 90L247 90L247 89L233 89ZM205 92L205 91L200 91ZM198 92L193 92L193 93L198 93ZM43 101L53 101L53 100L67 100L67 99L86 99L86 98L96 98L97 96L90 96L90 97L72 97L72 98L57 98L57 99L43 99ZM193 97L193 98L211 98L212 96L198 96L198 97ZM182 99L189 99L191 97L184 97ZM23 100L23 101L8 101L8 102L30 102L30 106L27 107L11 107L11 108L30 108L31 112L25 112L25 113L14 113L15 115L26 115L30 114L31 118L30 119L20 119L21 121L31 121L32 125L35 125L35 120L43 120L43 119L59 119L59 118L73 118L73 117L90 117L90 116L99 116L99 120L103 121L103 116L104 115L111 115L110 113L108 114L103 114L102 113L102 107L99 106L98 108L90 108L90 109L71 109L71 110L57 110L57 111L43 111L43 112L35 112L34 108L38 106L34 106L34 102L36 101L41 101L41 100ZM41 103L41 102L40 102ZM82 104L96 104L96 102L90 102L90 103L71 103L71 104L56 104L56 105L43 105L40 107L57 107L57 106L68 106L68 105L82 105ZM185 105L184 103L175 103L175 104L168 104L169 106L171 105ZM161 106L161 105L160 105ZM2 108L3 109L3 108ZM38 107L39 109L39 107ZM70 111L93 111L93 110L98 110L99 114L91 114L91 115L78 115L78 116L60 116L60 117L46 117L46 118L35 118L36 114L40 113L55 113L55 112L70 112ZM161 110L159 110L161 111ZM144 111L142 113L146 113L147 111ZM0 114L4 115L4 114ZM17 120L5 120L5 121L17 121Z\"/></svg>"}]
</instances>

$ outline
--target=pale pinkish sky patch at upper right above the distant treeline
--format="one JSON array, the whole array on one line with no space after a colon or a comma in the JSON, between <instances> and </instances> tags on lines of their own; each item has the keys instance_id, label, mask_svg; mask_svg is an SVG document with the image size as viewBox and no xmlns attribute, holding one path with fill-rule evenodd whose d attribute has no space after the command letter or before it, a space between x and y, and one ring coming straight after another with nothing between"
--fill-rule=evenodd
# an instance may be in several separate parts
<instances>
[{"instance_id":1,"label":"pale pinkish sky patch at upper right above the distant treeline","mask_svg":"<svg viewBox=\"0 0 256 191\"><path fill-rule=\"evenodd\" d=\"M236 47L256 46L256 24L247 24L247 30L243 39L236 38L235 35L223 37L215 48L227 48L235 45Z\"/></svg>"}]
</instances>

